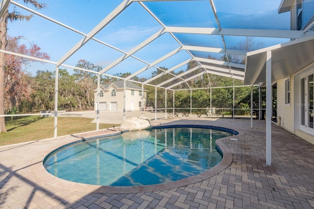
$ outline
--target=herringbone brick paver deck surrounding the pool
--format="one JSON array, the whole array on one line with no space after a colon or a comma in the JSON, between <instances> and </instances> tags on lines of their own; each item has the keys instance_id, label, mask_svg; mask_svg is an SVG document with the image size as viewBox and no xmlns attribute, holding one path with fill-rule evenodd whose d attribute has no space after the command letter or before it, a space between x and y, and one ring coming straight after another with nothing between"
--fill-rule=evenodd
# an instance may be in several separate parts
<instances>
[{"instance_id":1,"label":"herringbone brick paver deck surrounding the pool","mask_svg":"<svg viewBox=\"0 0 314 209\"><path fill-rule=\"evenodd\" d=\"M160 123L224 126L239 131L240 135L233 137L237 141L222 139L226 158L228 153L232 153L232 158L218 165L223 169L215 167L219 172L211 177L200 175L181 182L180 186L113 190L61 180L43 168L43 158L51 150L78 140L77 137L0 147L0 208L314 208L314 145L307 141L273 125L272 166L267 166L265 121L255 120L253 129L250 120L240 119L153 121L153 125Z\"/></svg>"}]
</instances>

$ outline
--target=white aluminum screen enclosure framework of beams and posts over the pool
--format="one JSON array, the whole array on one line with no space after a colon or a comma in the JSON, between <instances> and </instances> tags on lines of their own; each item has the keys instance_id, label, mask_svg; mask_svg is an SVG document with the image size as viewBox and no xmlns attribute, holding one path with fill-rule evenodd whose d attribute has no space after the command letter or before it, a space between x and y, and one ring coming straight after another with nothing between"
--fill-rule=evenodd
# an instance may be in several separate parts
<instances>
[{"instance_id":1,"label":"white aluminum screen enclosure framework of beams and posts over the pool","mask_svg":"<svg viewBox=\"0 0 314 209\"><path fill-rule=\"evenodd\" d=\"M118 58L117 60L113 61L112 63L108 64L106 67L104 67L102 70L100 70L99 72L95 72L95 71L91 71L88 69L79 69L79 70L84 70L84 71L88 71L88 72L93 72L97 75L98 77L98 83L97 86L100 86L100 76L105 75L105 76L111 76L114 77L110 74L105 74L105 72L107 72L108 70L112 69L113 67L117 66L120 62L124 61L125 59L127 59L128 57L132 57L144 64L146 64L146 67L144 68L139 68L137 69L137 71L135 71L134 73L132 73L130 76L128 76L127 78L119 78L121 80L124 80L125 82L140 74L141 72L144 72L145 70L148 70L150 68L155 68L158 70L161 70L162 73L156 75L155 77L152 77L150 79L148 79L145 82L137 82L139 84L142 85L142 95L144 94L144 85L152 85L151 82L156 80L157 78L162 77L165 74L170 74L173 76L173 78L171 79L167 79L165 81L162 81L161 83L157 84L157 85L152 85L155 87L155 100L157 100L156 98L156 94L157 94L157 88L163 88L165 89L165 91L167 90L172 90L173 91L173 113L174 113L174 109L175 109L175 101L174 101L174 93L175 91L175 87L178 86L181 83L186 83L186 81L192 79L192 78L196 78L199 76L203 76L205 74L208 73L212 73L215 75L221 75L221 76L226 76L226 77L230 77L230 78L235 78L235 79L239 79L239 80L244 80L244 85L250 85L251 87L257 83L261 83L261 82L266 82L266 92L267 92L267 108L269 107L268 105L271 104L270 103L270 98L271 95L269 95L270 91L271 91L271 84L273 83L274 79L276 79L276 77L272 76L271 71L274 72L274 69L272 69L272 62L275 60L276 58L276 54L274 55L274 51L276 51L276 49L280 48L280 47L284 47L284 46L289 46L290 43L288 43L287 45L283 44L281 46L274 46L274 47L268 47L266 49L261 49L261 50L257 50L254 52L250 52L250 51L245 51L245 50L237 50L237 49L232 49L232 48L228 48L226 46L225 40L224 40L224 36L242 36L242 37L246 37L246 36L251 36L251 37L270 37L270 38L288 38L288 39L296 39L295 41L292 41L292 44L298 44L301 42L306 42L306 41L311 41L311 44L313 44L312 40L314 40L314 31L289 31L289 30L264 30L264 29L239 29L239 28L222 28L220 22L219 22L219 15L217 15L217 11L214 5L213 0L209 0L210 3L210 7L209 10L210 12L213 12L214 17L215 17L215 21L218 25L217 28L205 28L205 27L173 27L173 26L166 26L164 23L162 23L161 20L158 19L157 15L155 15L152 11L150 11L146 6L145 6L145 2L147 1L167 1L167 0L123 0L122 3L120 3L116 8L114 8L111 13L109 15L107 15L103 20L101 20L94 28L92 28L87 34L70 27L69 25L66 25L64 23L60 23L50 17L47 17L43 14L41 14L39 11L35 11L32 10L28 7L26 7L25 5L22 5L14 0L1 0L0 1L0 16L3 14L4 9L11 3L17 7L20 7L30 13L32 13L33 15L36 15L40 18L44 18L52 23L58 24L61 27L64 27L68 30L74 31L77 34L82 36L82 39L75 44L69 51L67 51L65 54L60 55L60 58L56 61L48 61L48 60L41 60L35 57L29 57L23 54L17 54L17 53L13 53L10 51L6 51L6 50L0 50L1 53L6 53L6 54L12 54L15 56L22 56L22 57L26 57L29 59L33 59L36 61L41 61L41 62L46 62L46 63L51 63L55 65L55 104L54 104L54 137L57 137L57 115L58 115L58 111L57 111L57 106L58 106L58 100L57 100L57 95L58 95L58 68L60 66L64 66L64 67L69 67L69 68L73 68L73 69L78 69L75 66L69 66L69 65L65 65L64 62L66 60L68 60L71 55L73 55L76 51L78 51L82 46L84 46L87 42L89 42L90 40L96 41L104 46L108 46L116 51L119 51L121 53L123 53L123 56L121 56L120 58ZM169 0L170 1L170 0ZM178 2L180 0L177 0ZM181 0L183 1L183 0ZM149 38L147 38L145 41L143 41L142 43L140 43L139 45L133 47L130 51L125 52L120 48L117 48L115 46L111 46L103 41L97 40L95 38L95 35L101 31L103 28L105 28L105 26L110 23L112 20L114 20L116 17L118 17L120 15L120 13L122 13L126 8L128 8L132 3L138 3L139 5L141 5L147 12L149 15L151 15L156 21L157 23L160 24L161 29L159 29L156 33L154 33L152 36L150 36ZM312 24L313 25L313 24ZM139 59L136 56L134 56L135 52L139 51L141 48L147 46L148 44L150 44L151 42L153 42L154 40L156 40L158 37L160 37L161 35L165 34L165 33L169 33L175 41L178 42L179 46L178 48L174 49L173 51L169 52L169 53L165 53L164 56L160 57L159 59L153 61L153 62L147 62L145 60ZM186 34L206 34L206 35L219 35L221 37L222 43L223 43L223 47L222 48L217 48L217 47L210 47L210 46L190 46L190 45L183 45L179 39L176 37L175 33L186 33ZM301 40L301 41L300 41ZM292 45L291 44L291 45ZM302 45L302 44L301 44ZM313 46L313 45L310 45ZM314 48L314 47L312 47ZM186 61L182 62L181 64L178 64L176 66L169 66L169 70L163 70L163 69L159 69L156 65L158 63L160 63L161 61L177 54L180 51L186 51L189 55L190 58L187 59ZM303 49L305 51L310 51L310 53L313 53L313 49ZM246 55L247 56L247 63L246 65L241 65L238 63L232 63L229 60L227 62L223 62L223 61L217 61L217 60L213 60L213 59L209 59L209 58L200 58L200 57L195 57L192 55L191 51L202 51L202 52L210 52L210 53L224 53L227 55L227 59L228 59L228 54L236 54L236 55ZM259 54L258 58L254 58L254 55ZM250 58L251 57L251 58ZM313 57L311 57L310 55L308 55L307 57L308 60L312 60L313 61ZM174 73L172 73L174 70L186 65L187 63L191 62L191 61L195 61L198 63L198 66L187 70L185 72L183 72L180 75L175 75ZM254 66L251 66L252 62L254 63ZM249 63L249 65L248 65ZM305 63L306 64L306 63ZM245 71L244 71L245 69ZM249 69L249 70L248 70ZM253 70L250 70L253 69ZM191 73L195 70L201 70L201 72L195 74L194 76L191 76L189 78L184 78L183 76ZM243 71L242 71L243 70ZM264 72L264 70L266 70L265 76L263 76L262 72ZM291 73L291 72L286 72L284 71L286 74L287 73ZM252 74L250 74L252 73ZM245 79L244 79L245 78ZM170 86L164 87L166 84L169 84L170 82L174 81L178 79L179 81L176 84L172 84ZM124 82L124 83L125 83ZM132 81L134 82L134 81ZM125 85L124 85L124 91L125 91ZM192 89L190 88L190 91L192 91ZM99 104L99 88L98 88L98 97L97 97L97 104ZM211 94L211 87L210 87L210 94ZM126 93L124 92L124 95L126 96ZM211 97L210 97L211 98ZM167 99L167 98L166 98ZM252 89L251 89L251 102L252 102ZM155 103L157 104L157 101L155 101ZM211 102L210 102L211 103ZM191 103L190 103L190 107L191 107ZM99 107L99 105L97 105L97 107ZM124 104L125 107L125 104ZM155 106L156 107L156 106ZM252 108L252 103L251 103L251 108ZM124 108L125 109L125 108ZM210 106L211 109L211 106ZM156 113L156 108L155 108L155 113ZM267 114L271 113L270 111L267 111ZM251 110L251 115L252 115L252 110ZM261 115L261 114L260 114ZM4 115L7 116L7 115ZM142 102L142 116L143 116L143 102ZM156 117L156 116L155 116ZM268 119L270 119L269 117L271 117L271 115L267 115L267 128L266 128L266 132L267 132L267 141L270 139L271 141L271 127L269 126L269 121ZM125 118L125 111L124 111L124 118ZM251 120L251 127L253 125L253 122ZM99 129L99 110L97 110L97 130ZM269 142L269 141L268 141ZM269 145L269 143L267 143L267 157L266 157L266 162L267 164L271 164L270 158L271 155L269 155L269 152L271 152L271 150L269 151L269 147L271 147Z\"/></svg>"}]
</instances>

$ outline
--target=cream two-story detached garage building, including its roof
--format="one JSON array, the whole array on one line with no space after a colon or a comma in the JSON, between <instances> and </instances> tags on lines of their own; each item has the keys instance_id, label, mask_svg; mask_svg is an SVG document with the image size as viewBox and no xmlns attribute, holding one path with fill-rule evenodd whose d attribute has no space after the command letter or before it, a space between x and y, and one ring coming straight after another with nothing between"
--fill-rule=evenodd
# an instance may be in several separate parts
<instances>
[{"instance_id":1,"label":"cream two-story detached garage building, including its roof","mask_svg":"<svg viewBox=\"0 0 314 209\"><path fill-rule=\"evenodd\" d=\"M99 110L123 111L124 81L115 81L107 85L100 85ZM142 100L143 97L143 100ZM94 90L95 110L97 110L97 89ZM126 111L141 110L146 105L146 91L131 81L126 82Z\"/></svg>"}]
</instances>

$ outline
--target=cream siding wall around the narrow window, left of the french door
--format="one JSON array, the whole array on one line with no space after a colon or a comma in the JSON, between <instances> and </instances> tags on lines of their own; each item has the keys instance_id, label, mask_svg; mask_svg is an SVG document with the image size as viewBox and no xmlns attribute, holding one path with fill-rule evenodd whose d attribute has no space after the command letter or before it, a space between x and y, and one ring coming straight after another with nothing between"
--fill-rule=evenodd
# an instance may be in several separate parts
<instances>
[{"instance_id":1,"label":"cream siding wall around the narrow window, left of the french door","mask_svg":"<svg viewBox=\"0 0 314 209\"><path fill-rule=\"evenodd\" d=\"M285 104L285 81L288 78L277 81L277 124L282 128L293 131L293 105L294 105L294 91L293 91L293 76L290 76L290 104Z\"/></svg>"}]
</instances>

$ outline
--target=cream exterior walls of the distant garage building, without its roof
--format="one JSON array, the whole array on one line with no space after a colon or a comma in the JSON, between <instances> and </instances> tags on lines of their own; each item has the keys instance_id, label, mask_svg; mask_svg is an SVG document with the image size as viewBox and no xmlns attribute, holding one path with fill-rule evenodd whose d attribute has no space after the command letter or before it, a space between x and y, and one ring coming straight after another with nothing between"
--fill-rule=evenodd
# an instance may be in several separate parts
<instances>
[{"instance_id":1,"label":"cream exterior walls of the distant garage building, without its roof","mask_svg":"<svg viewBox=\"0 0 314 209\"><path fill-rule=\"evenodd\" d=\"M112 90L116 90L116 95L111 96ZM123 111L124 108L124 92L123 89L116 89L114 87L110 87L107 90L103 90L104 96L99 97L99 102L106 102L107 110L110 111L110 102L117 102L117 110ZM133 102L133 110L140 110L139 102L142 101L142 96L139 96L140 90L134 90L134 95L131 95L131 89L126 89L126 111L131 111L131 102ZM95 98L95 110L97 110L97 91L94 92ZM143 99L144 106L146 104L146 93L144 92Z\"/></svg>"}]
</instances>

